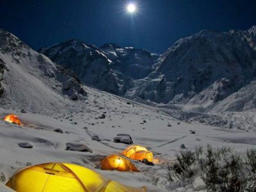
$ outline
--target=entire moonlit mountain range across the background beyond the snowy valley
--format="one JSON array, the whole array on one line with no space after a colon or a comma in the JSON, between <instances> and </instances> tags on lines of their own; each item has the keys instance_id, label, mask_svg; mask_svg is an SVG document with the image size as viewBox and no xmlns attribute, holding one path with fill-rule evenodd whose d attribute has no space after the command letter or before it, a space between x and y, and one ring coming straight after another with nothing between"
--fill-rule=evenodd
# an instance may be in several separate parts
<instances>
[{"instance_id":1,"label":"entire moonlit mountain range across the background beyond the snowy valley","mask_svg":"<svg viewBox=\"0 0 256 192\"><path fill-rule=\"evenodd\" d=\"M157 58L143 49L116 44L98 48L79 40L40 52L72 69L83 83L106 92L212 109L255 79L255 31L255 26L246 31L200 31Z\"/></svg>"}]
</instances>

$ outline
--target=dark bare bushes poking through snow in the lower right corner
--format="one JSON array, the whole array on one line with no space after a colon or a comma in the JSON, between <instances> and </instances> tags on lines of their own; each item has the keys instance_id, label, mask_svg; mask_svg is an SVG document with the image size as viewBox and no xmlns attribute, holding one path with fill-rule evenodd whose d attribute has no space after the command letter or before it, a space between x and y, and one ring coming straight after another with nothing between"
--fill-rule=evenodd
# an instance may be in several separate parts
<instances>
[{"instance_id":1,"label":"dark bare bushes poking through snow in the lower right corner","mask_svg":"<svg viewBox=\"0 0 256 192\"><path fill-rule=\"evenodd\" d=\"M256 191L256 149L238 154L231 148L197 147L182 151L168 166L170 184L194 186L200 177L208 191Z\"/></svg>"}]
</instances>

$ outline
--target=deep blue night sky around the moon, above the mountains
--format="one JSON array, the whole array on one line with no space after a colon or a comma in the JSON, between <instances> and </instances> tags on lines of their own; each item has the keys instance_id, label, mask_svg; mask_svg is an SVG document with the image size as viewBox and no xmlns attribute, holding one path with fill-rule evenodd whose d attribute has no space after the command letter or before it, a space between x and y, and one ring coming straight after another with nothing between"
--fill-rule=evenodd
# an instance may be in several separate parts
<instances>
[{"instance_id":1,"label":"deep blue night sky around the moon, above the mountains","mask_svg":"<svg viewBox=\"0 0 256 192\"><path fill-rule=\"evenodd\" d=\"M0 28L34 49L77 38L161 53L202 29L228 31L256 25L255 0L0 0Z\"/></svg>"}]
</instances>

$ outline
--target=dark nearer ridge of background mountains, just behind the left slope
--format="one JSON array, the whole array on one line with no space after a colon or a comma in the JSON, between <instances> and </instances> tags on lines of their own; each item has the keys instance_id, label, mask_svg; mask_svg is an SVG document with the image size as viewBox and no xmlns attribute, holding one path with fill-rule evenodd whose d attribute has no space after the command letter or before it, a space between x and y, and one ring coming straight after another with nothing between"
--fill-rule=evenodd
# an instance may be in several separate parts
<instances>
[{"instance_id":1,"label":"dark nearer ridge of background mountains, just behind the left slope","mask_svg":"<svg viewBox=\"0 0 256 192\"><path fill-rule=\"evenodd\" d=\"M131 87L132 79L113 70L116 64L94 45L69 40L40 49L40 52L55 63L70 68L83 83L100 90L123 95Z\"/></svg>"}]
</instances>

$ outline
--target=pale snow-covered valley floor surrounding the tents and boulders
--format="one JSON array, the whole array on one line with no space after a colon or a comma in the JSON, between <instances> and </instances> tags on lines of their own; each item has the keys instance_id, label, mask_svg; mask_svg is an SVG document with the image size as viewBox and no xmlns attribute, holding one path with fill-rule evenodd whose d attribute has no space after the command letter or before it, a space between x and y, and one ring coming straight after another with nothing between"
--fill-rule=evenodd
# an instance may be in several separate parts
<instances>
[{"instance_id":1,"label":"pale snow-covered valley floor surrounding the tents and boulders","mask_svg":"<svg viewBox=\"0 0 256 192\"><path fill-rule=\"evenodd\" d=\"M151 188L156 184L154 191L160 191L168 186L166 163L172 163L180 150L187 150L180 148L182 144L189 150L193 150L196 145L205 146L209 143L215 147L227 145L238 151L256 145L254 132L233 131L199 123L188 124L157 108L131 101L127 104L125 99L93 88L86 88L86 92L86 102L77 101L74 108L63 108L61 113L55 115L42 116L1 109L1 119L6 114L15 113L26 126L0 121L0 154L4 154L0 156L0 172L9 178L28 164L61 161L81 164L123 184ZM106 118L98 118L102 113L106 114ZM143 120L147 123L143 123ZM64 133L53 131L58 128ZM190 130L196 134L191 134ZM131 134L134 143L152 150L161 164L147 166L133 161L140 169L139 173L96 169L95 166L103 157L118 154L128 146L113 142L113 137L118 133ZM93 141L92 135L99 136L102 141ZM18 144L24 142L31 143L33 148L20 148ZM87 145L93 152L65 150L68 142Z\"/></svg>"}]
</instances>

